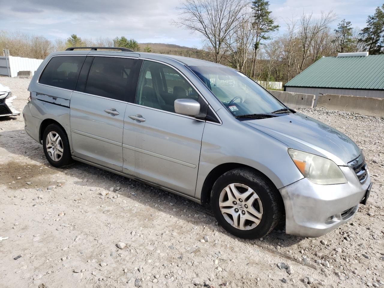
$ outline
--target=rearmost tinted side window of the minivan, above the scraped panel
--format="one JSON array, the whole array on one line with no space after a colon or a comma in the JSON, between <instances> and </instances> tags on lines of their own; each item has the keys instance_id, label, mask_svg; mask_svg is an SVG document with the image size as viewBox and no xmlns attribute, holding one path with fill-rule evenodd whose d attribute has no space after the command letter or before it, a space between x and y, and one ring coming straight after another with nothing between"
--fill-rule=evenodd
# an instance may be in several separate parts
<instances>
[{"instance_id":1,"label":"rearmost tinted side window of the minivan, above the scraped panel","mask_svg":"<svg viewBox=\"0 0 384 288\"><path fill-rule=\"evenodd\" d=\"M85 56L52 57L40 76L39 83L74 90Z\"/></svg>"}]
</instances>

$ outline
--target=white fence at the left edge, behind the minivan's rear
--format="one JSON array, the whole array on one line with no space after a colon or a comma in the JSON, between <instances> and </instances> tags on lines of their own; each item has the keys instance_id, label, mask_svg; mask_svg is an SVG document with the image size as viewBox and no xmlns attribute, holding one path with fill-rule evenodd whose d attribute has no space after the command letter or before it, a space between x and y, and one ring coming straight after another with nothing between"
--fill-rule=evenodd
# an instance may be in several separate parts
<instances>
[{"instance_id":1,"label":"white fence at the left edge, behind the minivan's rear","mask_svg":"<svg viewBox=\"0 0 384 288\"><path fill-rule=\"evenodd\" d=\"M16 77L18 71L32 71L33 75L41 62L43 62L41 59L15 56L9 56L9 59L7 59L6 56L0 56L0 75Z\"/></svg>"}]
</instances>

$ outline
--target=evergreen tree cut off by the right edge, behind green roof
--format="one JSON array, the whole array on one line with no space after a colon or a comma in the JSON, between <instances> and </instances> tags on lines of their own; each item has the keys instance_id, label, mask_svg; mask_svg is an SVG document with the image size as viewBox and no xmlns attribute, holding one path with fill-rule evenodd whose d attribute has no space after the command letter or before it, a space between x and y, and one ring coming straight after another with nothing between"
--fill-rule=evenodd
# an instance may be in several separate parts
<instances>
[{"instance_id":1,"label":"evergreen tree cut off by the right edge, behind green roof","mask_svg":"<svg viewBox=\"0 0 384 288\"><path fill-rule=\"evenodd\" d=\"M369 15L367 26L361 30L360 40L369 54L384 53L384 4L376 8L373 16Z\"/></svg>"}]
</instances>

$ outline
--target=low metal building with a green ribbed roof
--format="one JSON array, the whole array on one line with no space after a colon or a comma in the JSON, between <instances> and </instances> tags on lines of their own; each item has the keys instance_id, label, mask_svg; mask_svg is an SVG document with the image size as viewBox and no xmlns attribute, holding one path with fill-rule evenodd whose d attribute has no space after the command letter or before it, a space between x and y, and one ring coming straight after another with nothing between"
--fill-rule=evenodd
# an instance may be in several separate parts
<instances>
[{"instance_id":1,"label":"low metal building with a green ribbed roof","mask_svg":"<svg viewBox=\"0 0 384 288\"><path fill-rule=\"evenodd\" d=\"M368 52L323 57L284 85L284 91L305 94L384 98L384 55Z\"/></svg>"}]
</instances>

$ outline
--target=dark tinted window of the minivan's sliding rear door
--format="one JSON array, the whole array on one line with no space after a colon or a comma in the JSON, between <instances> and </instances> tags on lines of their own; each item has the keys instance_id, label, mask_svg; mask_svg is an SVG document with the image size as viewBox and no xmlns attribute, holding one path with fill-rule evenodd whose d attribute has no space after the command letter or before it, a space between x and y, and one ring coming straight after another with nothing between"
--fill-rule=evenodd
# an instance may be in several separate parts
<instances>
[{"instance_id":1,"label":"dark tinted window of the minivan's sliding rear door","mask_svg":"<svg viewBox=\"0 0 384 288\"><path fill-rule=\"evenodd\" d=\"M94 57L85 93L127 101L135 78L135 63L136 60L128 58Z\"/></svg>"}]
</instances>

